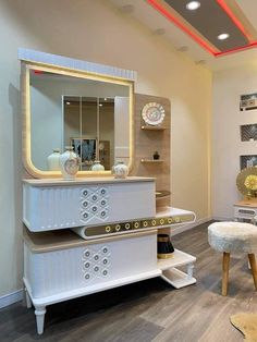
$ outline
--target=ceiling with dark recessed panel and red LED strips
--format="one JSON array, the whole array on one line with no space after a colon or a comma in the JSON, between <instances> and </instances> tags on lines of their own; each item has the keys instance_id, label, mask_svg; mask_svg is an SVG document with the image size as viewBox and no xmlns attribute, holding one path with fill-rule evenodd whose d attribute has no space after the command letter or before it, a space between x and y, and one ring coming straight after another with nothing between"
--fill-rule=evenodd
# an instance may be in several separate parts
<instances>
[{"instance_id":1,"label":"ceiling with dark recessed panel and red LED strips","mask_svg":"<svg viewBox=\"0 0 257 342\"><path fill-rule=\"evenodd\" d=\"M256 0L198 0L201 4L200 11L186 10L189 0L110 1L121 10L122 15L139 21L152 35L161 35L197 64L206 65L210 70L223 70L245 63L257 65ZM233 22L234 17L229 17L218 2L228 3L232 15L240 19L240 23L236 20ZM244 32L245 27L247 34ZM218 40L217 34L223 32L229 32L231 36L225 40ZM252 48L242 50L247 45Z\"/></svg>"}]
</instances>

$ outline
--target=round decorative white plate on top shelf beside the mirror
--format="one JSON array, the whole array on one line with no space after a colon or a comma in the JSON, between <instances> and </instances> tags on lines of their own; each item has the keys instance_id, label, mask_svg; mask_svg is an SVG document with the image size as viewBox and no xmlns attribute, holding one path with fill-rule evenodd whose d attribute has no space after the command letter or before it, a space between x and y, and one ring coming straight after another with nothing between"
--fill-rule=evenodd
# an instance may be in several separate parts
<instances>
[{"instance_id":1,"label":"round decorative white plate on top shelf beside the mirror","mask_svg":"<svg viewBox=\"0 0 257 342\"><path fill-rule=\"evenodd\" d=\"M145 123L156 126L162 123L166 117L164 108L157 102L146 103L142 109L142 118Z\"/></svg>"}]
</instances>

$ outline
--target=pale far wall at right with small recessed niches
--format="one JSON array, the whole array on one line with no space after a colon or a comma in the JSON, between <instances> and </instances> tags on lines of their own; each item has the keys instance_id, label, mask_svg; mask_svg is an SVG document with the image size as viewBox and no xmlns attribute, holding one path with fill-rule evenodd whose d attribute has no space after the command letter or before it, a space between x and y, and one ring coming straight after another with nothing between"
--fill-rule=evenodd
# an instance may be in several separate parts
<instances>
[{"instance_id":1,"label":"pale far wall at right with small recessed niches","mask_svg":"<svg viewBox=\"0 0 257 342\"><path fill-rule=\"evenodd\" d=\"M240 96L257 91L257 64L213 74L212 215L232 218L240 156L256 155L257 142L241 142L240 125L257 123L257 110L240 111Z\"/></svg>"}]
</instances>

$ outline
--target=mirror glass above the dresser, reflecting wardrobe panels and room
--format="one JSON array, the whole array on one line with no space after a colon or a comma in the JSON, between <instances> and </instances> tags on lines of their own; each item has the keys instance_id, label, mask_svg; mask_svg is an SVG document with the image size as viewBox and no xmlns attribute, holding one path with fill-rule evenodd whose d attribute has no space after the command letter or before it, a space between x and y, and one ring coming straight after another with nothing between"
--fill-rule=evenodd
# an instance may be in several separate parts
<instances>
[{"instance_id":1,"label":"mirror glass above the dresser, reflecting wardrobe panels and room","mask_svg":"<svg viewBox=\"0 0 257 342\"><path fill-rule=\"evenodd\" d=\"M130 158L130 87L30 70L32 161L58 170L54 157L73 146L81 171L110 170Z\"/></svg>"}]
</instances>

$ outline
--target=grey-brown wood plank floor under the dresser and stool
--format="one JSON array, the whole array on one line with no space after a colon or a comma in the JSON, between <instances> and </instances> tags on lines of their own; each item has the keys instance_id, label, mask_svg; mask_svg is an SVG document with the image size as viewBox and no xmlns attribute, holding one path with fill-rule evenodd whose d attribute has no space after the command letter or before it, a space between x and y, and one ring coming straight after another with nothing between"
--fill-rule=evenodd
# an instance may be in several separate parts
<instances>
[{"instance_id":1,"label":"grey-brown wood plank floor under the dresser and stool","mask_svg":"<svg viewBox=\"0 0 257 342\"><path fill-rule=\"evenodd\" d=\"M174 290L161 279L118 288L47 308L37 335L33 309L22 303L0 310L0 341L237 342L230 316L257 312L257 292L246 257L232 257L229 295L221 293L221 255L210 249L207 225L173 237L197 257L197 284Z\"/></svg>"}]
</instances>

